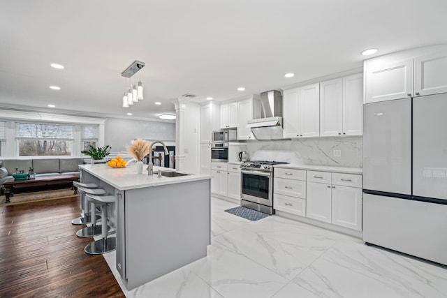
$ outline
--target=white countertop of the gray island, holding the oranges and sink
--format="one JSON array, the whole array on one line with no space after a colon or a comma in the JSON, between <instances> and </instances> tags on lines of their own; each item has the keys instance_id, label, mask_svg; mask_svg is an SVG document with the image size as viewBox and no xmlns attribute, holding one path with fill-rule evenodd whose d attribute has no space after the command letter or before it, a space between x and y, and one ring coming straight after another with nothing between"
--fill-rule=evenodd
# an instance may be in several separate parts
<instances>
[{"instance_id":1,"label":"white countertop of the gray island, holding the oranges and sink","mask_svg":"<svg viewBox=\"0 0 447 298\"><path fill-rule=\"evenodd\" d=\"M157 167L155 165L153 175L147 174L147 165L143 165L142 174L137 174L135 163L131 163L131 165L126 167L109 167L104 163L95 165L80 165L79 167L81 170L89 172L94 177L98 177L105 183L110 184L120 191L212 178L212 176L208 174L189 174L181 177L157 177L157 172L159 172L159 170L161 170L161 172L175 172L175 169L171 169L169 167Z\"/></svg>"}]
</instances>

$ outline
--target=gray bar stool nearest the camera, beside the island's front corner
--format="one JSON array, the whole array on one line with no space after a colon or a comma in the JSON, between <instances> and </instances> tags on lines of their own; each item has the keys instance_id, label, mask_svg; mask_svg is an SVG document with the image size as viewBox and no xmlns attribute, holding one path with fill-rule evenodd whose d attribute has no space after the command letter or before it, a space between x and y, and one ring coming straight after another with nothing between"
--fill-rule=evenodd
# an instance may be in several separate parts
<instances>
[{"instance_id":1,"label":"gray bar stool nearest the camera, beside the island's front corner","mask_svg":"<svg viewBox=\"0 0 447 298\"><path fill-rule=\"evenodd\" d=\"M115 204L115 195L91 195L86 194L86 197L94 202L94 204L101 205L101 225L103 227L108 227L107 225L107 208L110 204ZM101 255L103 253L108 253L109 251L115 251L117 247L117 237L107 237L108 230L103 228L102 239L96 240L87 244L84 251L89 255Z\"/></svg>"}]
</instances>

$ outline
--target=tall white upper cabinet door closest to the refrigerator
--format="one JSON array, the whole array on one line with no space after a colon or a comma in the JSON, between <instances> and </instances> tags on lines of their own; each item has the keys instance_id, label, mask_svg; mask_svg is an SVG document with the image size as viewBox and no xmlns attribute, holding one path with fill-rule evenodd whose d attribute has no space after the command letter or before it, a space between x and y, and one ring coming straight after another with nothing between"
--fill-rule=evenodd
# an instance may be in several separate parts
<instances>
[{"instance_id":1,"label":"tall white upper cabinet door closest to the refrigerator","mask_svg":"<svg viewBox=\"0 0 447 298\"><path fill-rule=\"evenodd\" d=\"M363 75L343 78L343 135L363 133Z\"/></svg>"}]
</instances>

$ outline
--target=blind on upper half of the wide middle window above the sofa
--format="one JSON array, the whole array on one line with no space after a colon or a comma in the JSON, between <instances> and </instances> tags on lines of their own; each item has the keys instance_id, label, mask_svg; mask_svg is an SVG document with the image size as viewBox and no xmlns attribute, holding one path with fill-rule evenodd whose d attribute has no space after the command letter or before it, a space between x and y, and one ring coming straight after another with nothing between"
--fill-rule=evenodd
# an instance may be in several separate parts
<instances>
[{"instance_id":1,"label":"blind on upper half of the wide middle window above the sofa","mask_svg":"<svg viewBox=\"0 0 447 298\"><path fill-rule=\"evenodd\" d=\"M23 139L58 139L73 140L73 126L64 124L15 124L15 136Z\"/></svg>"}]
</instances>

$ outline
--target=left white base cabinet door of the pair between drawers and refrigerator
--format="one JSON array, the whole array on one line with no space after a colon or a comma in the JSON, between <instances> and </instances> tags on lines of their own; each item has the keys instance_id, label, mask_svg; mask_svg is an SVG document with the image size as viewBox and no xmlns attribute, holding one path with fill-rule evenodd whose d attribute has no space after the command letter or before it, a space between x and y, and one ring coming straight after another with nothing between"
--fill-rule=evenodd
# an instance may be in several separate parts
<instances>
[{"instance_id":1,"label":"left white base cabinet door of the pair between drawers and refrigerator","mask_svg":"<svg viewBox=\"0 0 447 298\"><path fill-rule=\"evenodd\" d=\"M332 213L331 186L307 182L306 216L330 223Z\"/></svg>"}]
</instances>

